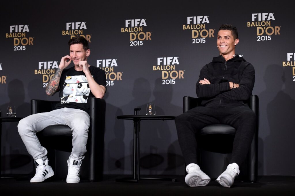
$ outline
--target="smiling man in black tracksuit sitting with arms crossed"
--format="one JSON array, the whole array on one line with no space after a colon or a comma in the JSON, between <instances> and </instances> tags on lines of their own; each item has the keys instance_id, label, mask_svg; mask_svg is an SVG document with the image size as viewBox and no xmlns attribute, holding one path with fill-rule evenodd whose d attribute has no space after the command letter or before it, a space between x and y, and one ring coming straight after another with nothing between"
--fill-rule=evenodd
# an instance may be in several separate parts
<instances>
[{"instance_id":1,"label":"smiling man in black tracksuit sitting with arms crossed","mask_svg":"<svg viewBox=\"0 0 295 196\"><path fill-rule=\"evenodd\" d=\"M238 32L232 25L221 25L217 35L219 56L205 65L196 83L202 106L175 118L178 141L186 163L185 182L190 187L206 186L210 177L197 165L196 135L206 125L225 124L236 129L232 159L217 182L231 187L240 173L255 131L256 116L243 101L249 99L254 86L254 67L235 53Z\"/></svg>"}]
</instances>

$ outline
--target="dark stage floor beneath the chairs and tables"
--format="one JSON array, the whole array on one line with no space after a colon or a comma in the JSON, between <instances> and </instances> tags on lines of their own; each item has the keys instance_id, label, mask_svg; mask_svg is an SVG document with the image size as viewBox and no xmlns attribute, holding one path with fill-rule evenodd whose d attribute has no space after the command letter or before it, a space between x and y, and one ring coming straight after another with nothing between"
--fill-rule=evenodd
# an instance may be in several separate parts
<instances>
[{"instance_id":1,"label":"dark stage floor beneath the chairs and tables","mask_svg":"<svg viewBox=\"0 0 295 196\"><path fill-rule=\"evenodd\" d=\"M118 176L105 176L101 182L82 180L67 184L65 180L47 179L30 183L29 179L0 179L1 195L295 195L295 177L260 176L255 183L235 180L231 188L212 180L206 187L188 187L184 176L174 176L177 182L142 180L137 183L115 182ZM122 176L120 176L122 177Z\"/></svg>"}]
</instances>

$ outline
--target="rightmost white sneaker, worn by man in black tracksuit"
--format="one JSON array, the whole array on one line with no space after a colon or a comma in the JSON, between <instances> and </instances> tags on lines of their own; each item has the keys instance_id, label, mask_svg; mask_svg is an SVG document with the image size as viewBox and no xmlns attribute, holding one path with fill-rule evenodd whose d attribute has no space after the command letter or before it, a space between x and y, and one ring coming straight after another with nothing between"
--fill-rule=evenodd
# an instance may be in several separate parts
<instances>
[{"instance_id":1,"label":"rightmost white sneaker, worn by man in black tracksuit","mask_svg":"<svg viewBox=\"0 0 295 196\"><path fill-rule=\"evenodd\" d=\"M239 166L232 163L227 166L226 170L216 180L222 186L230 188L234 184L235 177L239 174Z\"/></svg>"}]
</instances>

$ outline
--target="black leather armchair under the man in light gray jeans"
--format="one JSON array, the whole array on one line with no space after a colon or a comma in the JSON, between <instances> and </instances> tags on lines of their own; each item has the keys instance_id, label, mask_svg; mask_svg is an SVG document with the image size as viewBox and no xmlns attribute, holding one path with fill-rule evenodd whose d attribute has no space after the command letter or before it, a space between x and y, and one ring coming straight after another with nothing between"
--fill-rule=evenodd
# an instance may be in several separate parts
<instances>
[{"instance_id":1,"label":"black leather armchair under the man in light gray jeans","mask_svg":"<svg viewBox=\"0 0 295 196\"><path fill-rule=\"evenodd\" d=\"M49 112L55 108L58 101L31 100L31 113ZM87 153L81 166L81 179L83 173L87 175L90 182L102 180L103 155L104 155L104 125L105 125L106 102L104 99L90 98L90 127L87 141ZM65 160L69 154L64 156L64 161L58 160L55 155L60 151L71 152L72 132L67 125L51 125L37 133L42 146L48 151L49 164L55 175L58 168L63 168L65 177L68 166ZM63 154L63 153L60 153ZM87 165L88 162L88 165ZM87 171L88 170L88 171ZM85 171L85 172L83 172ZM84 175L85 176L85 175Z\"/></svg>"}]
</instances>

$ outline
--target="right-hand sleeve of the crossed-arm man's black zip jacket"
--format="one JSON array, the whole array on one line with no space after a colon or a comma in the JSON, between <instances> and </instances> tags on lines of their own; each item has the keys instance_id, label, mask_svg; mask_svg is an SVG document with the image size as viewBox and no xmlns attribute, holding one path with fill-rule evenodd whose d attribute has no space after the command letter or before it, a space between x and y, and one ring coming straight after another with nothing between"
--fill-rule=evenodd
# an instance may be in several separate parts
<instances>
[{"instance_id":1,"label":"right-hand sleeve of the crossed-arm man's black zip jacket","mask_svg":"<svg viewBox=\"0 0 295 196\"><path fill-rule=\"evenodd\" d=\"M243 73L240 76L239 87L222 93L222 97L232 100L241 101L249 99L255 82L255 70L253 65L247 63Z\"/></svg>"}]
</instances>

